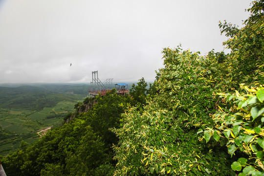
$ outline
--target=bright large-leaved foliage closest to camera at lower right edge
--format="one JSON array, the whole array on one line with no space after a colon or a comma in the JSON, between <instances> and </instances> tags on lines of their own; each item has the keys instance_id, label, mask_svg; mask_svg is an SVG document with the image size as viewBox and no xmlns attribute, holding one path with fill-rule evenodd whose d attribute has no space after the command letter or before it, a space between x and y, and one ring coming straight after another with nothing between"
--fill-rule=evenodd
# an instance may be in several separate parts
<instances>
[{"instance_id":1,"label":"bright large-leaved foliage closest to camera at lower right edge","mask_svg":"<svg viewBox=\"0 0 264 176\"><path fill-rule=\"evenodd\" d=\"M198 133L203 132L206 142L213 136L214 141L209 143L214 145L225 145L229 154L236 154L238 161L232 163L234 171L243 172L239 176L254 175L262 176L264 170L264 88L242 88L247 94L240 94L237 90L235 94L219 93L222 101L226 101L225 107L220 108L213 115L213 128L203 125ZM228 106L229 104L229 106ZM205 128L207 127L207 128Z\"/></svg>"}]
</instances>

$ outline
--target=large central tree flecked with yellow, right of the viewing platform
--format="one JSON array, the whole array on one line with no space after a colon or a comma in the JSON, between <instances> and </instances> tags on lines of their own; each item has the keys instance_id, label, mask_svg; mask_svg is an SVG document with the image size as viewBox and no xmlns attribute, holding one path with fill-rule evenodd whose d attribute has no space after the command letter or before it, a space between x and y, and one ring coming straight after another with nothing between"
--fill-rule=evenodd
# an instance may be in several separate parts
<instances>
[{"instance_id":1,"label":"large central tree flecked with yellow, right of the viewing platform","mask_svg":"<svg viewBox=\"0 0 264 176\"><path fill-rule=\"evenodd\" d=\"M164 48L164 68L156 83L158 94L144 110L123 115L115 146L116 175L235 175L232 159L220 147L209 151L197 136L200 122L212 123L217 98L214 88L222 75L217 58L204 59L181 48ZM223 66L225 68L225 66ZM218 79L219 81L214 81ZM224 173L221 172L224 170Z\"/></svg>"}]
</instances>

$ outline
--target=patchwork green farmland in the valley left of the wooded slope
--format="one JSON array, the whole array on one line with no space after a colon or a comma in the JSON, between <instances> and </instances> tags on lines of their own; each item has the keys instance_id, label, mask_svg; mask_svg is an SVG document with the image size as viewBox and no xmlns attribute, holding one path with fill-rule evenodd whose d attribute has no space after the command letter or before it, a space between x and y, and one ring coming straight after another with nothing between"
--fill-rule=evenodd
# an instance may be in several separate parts
<instances>
[{"instance_id":1,"label":"patchwork green farmland in the valley left of the wooded slope","mask_svg":"<svg viewBox=\"0 0 264 176\"><path fill-rule=\"evenodd\" d=\"M87 96L35 87L30 87L28 91L24 88L23 91L7 90L9 88L0 87L0 97L6 100L0 98L0 155L16 151L22 140L28 144L34 143L44 135L37 132L61 125L63 118L74 111L74 105Z\"/></svg>"}]
</instances>

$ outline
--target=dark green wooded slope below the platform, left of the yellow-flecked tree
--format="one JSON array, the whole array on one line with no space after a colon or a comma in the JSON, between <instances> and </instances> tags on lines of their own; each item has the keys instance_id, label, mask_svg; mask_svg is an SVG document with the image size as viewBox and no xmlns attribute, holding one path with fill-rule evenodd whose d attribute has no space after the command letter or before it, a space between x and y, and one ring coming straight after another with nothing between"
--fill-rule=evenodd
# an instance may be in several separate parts
<instances>
[{"instance_id":1,"label":"dark green wooded slope below the platform, left of the yellow-flecked tree","mask_svg":"<svg viewBox=\"0 0 264 176\"><path fill-rule=\"evenodd\" d=\"M87 112L82 106L96 102ZM111 144L117 138L109 128L118 128L120 114L132 102L130 96L114 92L106 96L86 98L77 104L75 118L62 127L48 132L29 147L3 157L8 176L101 176L114 169ZM120 106L122 104L123 106ZM56 172L54 172L56 171ZM103 174L104 173L104 174Z\"/></svg>"}]
</instances>

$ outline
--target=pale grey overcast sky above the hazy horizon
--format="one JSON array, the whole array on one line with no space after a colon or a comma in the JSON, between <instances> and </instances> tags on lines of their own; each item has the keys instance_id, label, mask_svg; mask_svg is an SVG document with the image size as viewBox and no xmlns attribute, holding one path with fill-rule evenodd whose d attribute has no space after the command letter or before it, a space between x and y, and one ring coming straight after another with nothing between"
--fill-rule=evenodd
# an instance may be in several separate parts
<instances>
[{"instance_id":1,"label":"pale grey overcast sky above the hazy horizon","mask_svg":"<svg viewBox=\"0 0 264 176\"><path fill-rule=\"evenodd\" d=\"M154 81L162 48L222 51L219 21L242 26L250 2L0 0L0 83Z\"/></svg>"}]
</instances>

